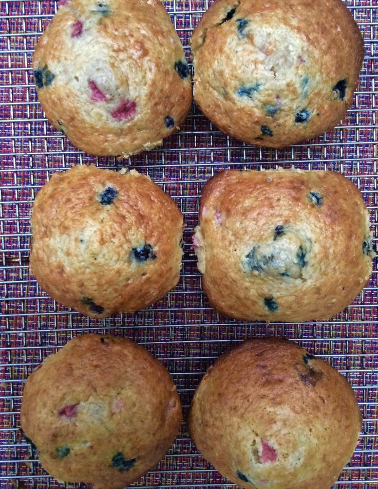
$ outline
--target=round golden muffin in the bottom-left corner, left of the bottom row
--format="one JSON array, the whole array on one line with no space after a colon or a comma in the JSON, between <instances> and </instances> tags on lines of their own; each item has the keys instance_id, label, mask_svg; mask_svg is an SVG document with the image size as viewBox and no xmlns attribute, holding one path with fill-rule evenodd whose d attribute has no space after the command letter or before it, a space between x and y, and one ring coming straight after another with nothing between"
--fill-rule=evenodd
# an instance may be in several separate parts
<instances>
[{"instance_id":1,"label":"round golden muffin in the bottom-left corner, left of the bottom row","mask_svg":"<svg viewBox=\"0 0 378 489\"><path fill-rule=\"evenodd\" d=\"M180 424L172 377L126 338L76 337L24 388L22 429L42 466L64 482L123 488L164 457Z\"/></svg>"}]
</instances>

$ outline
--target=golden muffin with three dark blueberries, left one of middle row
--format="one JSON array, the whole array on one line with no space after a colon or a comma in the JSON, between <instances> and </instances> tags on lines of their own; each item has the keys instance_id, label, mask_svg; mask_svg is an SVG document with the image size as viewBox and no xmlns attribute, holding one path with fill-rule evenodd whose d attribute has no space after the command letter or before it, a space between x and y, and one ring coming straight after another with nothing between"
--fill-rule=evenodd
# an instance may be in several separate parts
<instances>
[{"instance_id":1,"label":"golden muffin with three dark blueberries, left one of middle row","mask_svg":"<svg viewBox=\"0 0 378 489\"><path fill-rule=\"evenodd\" d=\"M55 300L101 318L134 312L178 282L183 218L149 177L77 166L33 204L30 267Z\"/></svg>"}]
</instances>

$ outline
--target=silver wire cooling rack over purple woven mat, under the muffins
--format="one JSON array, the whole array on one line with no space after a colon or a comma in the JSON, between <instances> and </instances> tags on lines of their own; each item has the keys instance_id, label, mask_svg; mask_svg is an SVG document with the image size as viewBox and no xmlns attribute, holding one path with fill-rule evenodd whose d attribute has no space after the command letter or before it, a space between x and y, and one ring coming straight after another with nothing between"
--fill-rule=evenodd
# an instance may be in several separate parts
<instances>
[{"instance_id":1,"label":"silver wire cooling rack over purple woven mat, under the muffins","mask_svg":"<svg viewBox=\"0 0 378 489\"><path fill-rule=\"evenodd\" d=\"M88 156L72 147L46 121L37 102L31 56L56 3L0 2L2 488L60 487L41 469L18 430L22 388L33 368L72 335L107 331L133 338L163 361L174 376L184 411L206 368L233 343L251 336L285 335L297 339L348 378L363 412L360 442L335 487L378 489L376 261L370 284L331 321L267 325L234 321L214 312L201 293L201 278L191 250L203 183L223 168L280 165L342 172L360 188L376 233L378 15L376 0L348 0L347 5L363 32L366 57L354 105L345 123L334 132L303 146L279 151L257 149L222 135L193 106L182 131L166 140L162 149L121 163ZM189 59L188 39L209 5L203 0L167 0L165 6ZM175 199L184 214L187 227L180 283L164 300L145 311L89 319L55 303L29 275L29 219L36 192L54 171L89 163L112 169L126 165L148 173ZM376 247L376 238L374 242ZM232 487L198 454L185 421L166 458L135 485Z\"/></svg>"}]
</instances>

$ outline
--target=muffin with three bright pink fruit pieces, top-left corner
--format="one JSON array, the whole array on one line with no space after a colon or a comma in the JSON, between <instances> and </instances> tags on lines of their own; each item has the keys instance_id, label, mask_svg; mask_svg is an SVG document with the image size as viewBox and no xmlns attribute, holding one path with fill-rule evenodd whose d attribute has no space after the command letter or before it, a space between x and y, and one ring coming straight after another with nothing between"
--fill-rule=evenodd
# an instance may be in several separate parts
<instances>
[{"instance_id":1,"label":"muffin with three bright pink fruit pieces, top-left corner","mask_svg":"<svg viewBox=\"0 0 378 489\"><path fill-rule=\"evenodd\" d=\"M179 129L192 101L188 65L159 0L70 0L35 47L48 120L87 153L126 157Z\"/></svg>"}]
</instances>

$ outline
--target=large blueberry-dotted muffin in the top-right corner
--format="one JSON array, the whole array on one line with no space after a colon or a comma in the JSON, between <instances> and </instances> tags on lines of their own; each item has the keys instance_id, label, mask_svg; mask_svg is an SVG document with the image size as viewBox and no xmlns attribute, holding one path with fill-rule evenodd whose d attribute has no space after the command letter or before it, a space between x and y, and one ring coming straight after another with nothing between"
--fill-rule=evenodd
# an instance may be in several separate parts
<instances>
[{"instance_id":1,"label":"large blueberry-dotted muffin in the top-right corner","mask_svg":"<svg viewBox=\"0 0 378 489\"><path fill-rule=\"evenodd\" d=\"M364 58L341 0L218 0L191 44L203 113L225 134L273 148L333 129Z\"/></svg>"}]
</instances>

